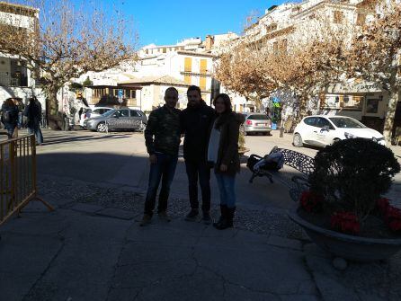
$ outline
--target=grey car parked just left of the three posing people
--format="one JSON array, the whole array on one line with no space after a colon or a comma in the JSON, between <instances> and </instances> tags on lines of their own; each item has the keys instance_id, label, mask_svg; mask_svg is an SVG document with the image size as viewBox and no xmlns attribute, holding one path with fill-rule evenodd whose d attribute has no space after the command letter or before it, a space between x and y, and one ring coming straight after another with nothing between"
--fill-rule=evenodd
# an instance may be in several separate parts
<instances>
[{"instance_id":1,"label":"grey car parked just left of the three posing people","mask_svg":"<svg viewBox=\"0 0 401 301\"><path fill-rule=\"evenodd\" d=\"M105 132L106 130L143 130L147 116L143 111L111 109L100 116L85 119L84 128Z\"/></svg>"}]
</instances>

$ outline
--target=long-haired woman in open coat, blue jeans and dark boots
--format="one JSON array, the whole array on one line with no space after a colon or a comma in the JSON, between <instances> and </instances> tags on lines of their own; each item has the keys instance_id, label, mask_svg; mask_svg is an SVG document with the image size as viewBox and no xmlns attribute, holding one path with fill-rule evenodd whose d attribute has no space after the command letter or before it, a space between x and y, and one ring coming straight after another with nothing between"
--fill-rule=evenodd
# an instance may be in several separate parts
<instances>
[{"instance_id":1,"label":"long-haired woman in open coat, blue jeans and dark boots","mask_svg":"<svg viewBox=\"0 0 401 301\"><path fill-rule=\"evenodd\" d=\"M220 192L221 215L213 226L223 230L233 226L236 211L236 173L240 171L238 137L245 118L232 111L231 100L225 93L218 94L214 106L218 118L210 133L208 161L214 164Z\"/></svg>"}]
</instances>

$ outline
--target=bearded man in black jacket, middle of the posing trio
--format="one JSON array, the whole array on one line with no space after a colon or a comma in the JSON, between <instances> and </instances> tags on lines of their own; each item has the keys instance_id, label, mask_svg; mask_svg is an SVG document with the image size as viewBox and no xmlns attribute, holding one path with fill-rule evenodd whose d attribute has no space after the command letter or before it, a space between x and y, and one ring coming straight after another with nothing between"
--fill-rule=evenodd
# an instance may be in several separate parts
<instances>
[{"instance_id":1,"label":"bearded man in black jacket, middle of the posing trio","mask_svg":"<svg viewBox=\"0 0 401 301\"><path fill-rule=\"evenodd\" d=\"M194 221L199 216L199 180L202 195L202 220L206 224L210 224L210 166L207 160L207 151L209 131L215 112L202 100L198 86L190 86L187 96L188 107L181 113L181 128L185 134L183 157L189 182L191 211L185 219Z\"/></svg>"}]
</instances>

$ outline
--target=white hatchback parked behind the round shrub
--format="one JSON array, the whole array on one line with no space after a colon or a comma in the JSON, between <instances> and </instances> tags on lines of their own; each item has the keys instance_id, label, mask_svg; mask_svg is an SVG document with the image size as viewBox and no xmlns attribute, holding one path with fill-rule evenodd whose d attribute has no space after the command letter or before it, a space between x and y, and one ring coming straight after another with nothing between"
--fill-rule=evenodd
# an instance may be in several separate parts
<instances>
[{"instance_id":1,"label":"white hatchback parked behind the round shrub","mask_svg":"<svg viewBox=\"0 0 401 301\"><path fill-rule=\"evenodd\" d=\"M367 138L386 146L377 130L367 128L360 121L345 116L316 115L305 117L294 129L292 144L301 147L330 146L335 141L349 138Z\"/></svg>"}]
</instances>

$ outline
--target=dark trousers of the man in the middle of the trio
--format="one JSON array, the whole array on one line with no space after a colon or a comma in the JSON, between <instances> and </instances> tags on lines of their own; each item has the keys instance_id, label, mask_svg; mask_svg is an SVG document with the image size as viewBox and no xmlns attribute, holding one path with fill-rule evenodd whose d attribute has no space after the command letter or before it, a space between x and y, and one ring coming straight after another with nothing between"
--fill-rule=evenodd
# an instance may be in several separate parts
<instances>
[{"instance_id":1,"label":"dark trousers of the man in the middle of the trio","mask_svg":"<svg viewBox=\"0 0 401 301\"><path fill-rule=\"evenodd\" d=\"M198 179L202 193L202 211L210 210L210 167L206 161L185 160L192 209L199 208Z\"/></svg>"}]
</instances>

